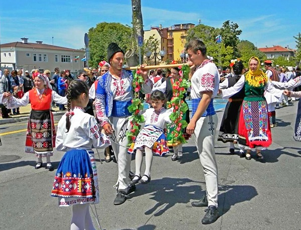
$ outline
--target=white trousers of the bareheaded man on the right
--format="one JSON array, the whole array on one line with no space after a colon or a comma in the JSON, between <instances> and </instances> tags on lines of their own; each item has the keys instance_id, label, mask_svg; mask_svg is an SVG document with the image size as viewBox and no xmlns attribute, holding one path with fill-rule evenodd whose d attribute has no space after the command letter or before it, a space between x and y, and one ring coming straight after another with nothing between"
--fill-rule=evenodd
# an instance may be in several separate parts
<instances>
[{"instance_id":1,"label":"white trousers of the bareheaded man on the right","mask_svg":"<svg viewBox=\"0 0 301 230\"><path fill-rule=\"evenodd\" d=\"M218 206L218 178L215 159L214 140L217 127L217 115L201 117L195 128L194 137L203 166L208 206Z\"/></svg>"}]
</instances>

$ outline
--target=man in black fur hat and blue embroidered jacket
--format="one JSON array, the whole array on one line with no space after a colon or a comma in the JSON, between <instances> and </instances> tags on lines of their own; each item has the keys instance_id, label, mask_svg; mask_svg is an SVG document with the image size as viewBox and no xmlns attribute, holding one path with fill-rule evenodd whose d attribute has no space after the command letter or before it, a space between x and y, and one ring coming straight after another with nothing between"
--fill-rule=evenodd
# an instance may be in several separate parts
<instances>
[{"instance_id":1,"label":"man in black fur hat and blue embroidered jacket","mask_svg":"<svg viewBox=\"0 0 301 230\"><path fill-rule=\"evenodd\" d=\"M114 204L125 202L128 194L135 187L129 186L128 175L130 170L131 155L127 153L128 140L126 132L130 128L130 116L128 106L133 98L131 71L122 69L124 52L116 43L110 43L107 49L107 59L110 64L109 71L99 78L96 90L95 107L96 116L107 135L111 135L111 144L118 163L118 180L115 184L117 195ZM143 93L150 93L151 81L147 77L147 71L140 71L144 83Z\"/></svg>"}]
</instances>

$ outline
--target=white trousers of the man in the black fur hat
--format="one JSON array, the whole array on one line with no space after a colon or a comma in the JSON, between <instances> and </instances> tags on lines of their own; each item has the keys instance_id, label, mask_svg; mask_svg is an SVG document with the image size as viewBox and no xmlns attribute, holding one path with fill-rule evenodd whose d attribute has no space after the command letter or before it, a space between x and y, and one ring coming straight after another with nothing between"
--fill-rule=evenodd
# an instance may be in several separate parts
<instances>
[{"instance_id":1,"label":"white trousers of the man in the black fur hat","mask_svg":"<svg viewBox=\"0 0 301 230\"><path fill-rule=\"evenodd\" d=\"M127 153L128 144L125 136L130 129L129 117L110 117L110 122L114 133L111 135L111 145L118 164L118 179L116 187L118 191L126 191L130 181L128 174L130 170L131 154ZM117 144L118 143L118 144Z\"/></svg>"}]
</instances>

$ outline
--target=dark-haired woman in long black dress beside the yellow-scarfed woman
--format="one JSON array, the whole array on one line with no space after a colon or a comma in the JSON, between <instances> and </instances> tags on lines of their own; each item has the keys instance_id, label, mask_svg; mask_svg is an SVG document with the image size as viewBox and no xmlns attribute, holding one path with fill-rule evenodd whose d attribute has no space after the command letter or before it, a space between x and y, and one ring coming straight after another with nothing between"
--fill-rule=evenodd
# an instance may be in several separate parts
<instances>
[{"instance_id":1,"label":"dark-haired woman in long black dress beside the yellow-scarfed woman","mask_svg":"<svg viewBox=\"0 0 301 230\"><path fill-rule=\"evenodd\" d=\"M234 86L241 78L243 64L239 59L231 61L230 67L233 69L234 77L226 78L219 85L219 89L224 97L227 97L227 89ZM234 154L234 144L238 143L238 120L241 104L245 96L244 87L236 94L229 97L225 112L221 121L220 131L217 140L230 143L230 154ZM244 148L240 147L240 156L244 157Z\"/></svg>"}]
</instances>

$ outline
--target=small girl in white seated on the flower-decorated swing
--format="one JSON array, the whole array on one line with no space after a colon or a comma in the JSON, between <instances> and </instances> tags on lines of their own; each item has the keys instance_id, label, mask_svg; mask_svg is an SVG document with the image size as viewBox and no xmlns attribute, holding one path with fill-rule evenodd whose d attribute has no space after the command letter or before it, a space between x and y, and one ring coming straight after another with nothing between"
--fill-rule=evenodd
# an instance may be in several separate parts
<instances>
[{"instance_id":1,"label":"small girl in white seated on the flower-decorated swing","mask_svg":"<svg viewBox=\"0 0 301 230\"><path fill-rule=\"evenodd\" d=\"M167 99L163 92L156 90L150 95L150 101L152 101L152 107L147 109L143 113L145 119L145 126L137 135L133 147L129 148L128 153L132 153L136 149L135 158L135 176L130 185L136 183L148 183L150 181L150 168L153 162L153 153L163 156L169 152L169 148L166 141L164 129L166 123L171 123L169 116L172 113L172 109L165 109L164 104ZM141 177L140 170L142 165L143 153L145 150L145 171Z\"/></svg>"}]
</instances>

